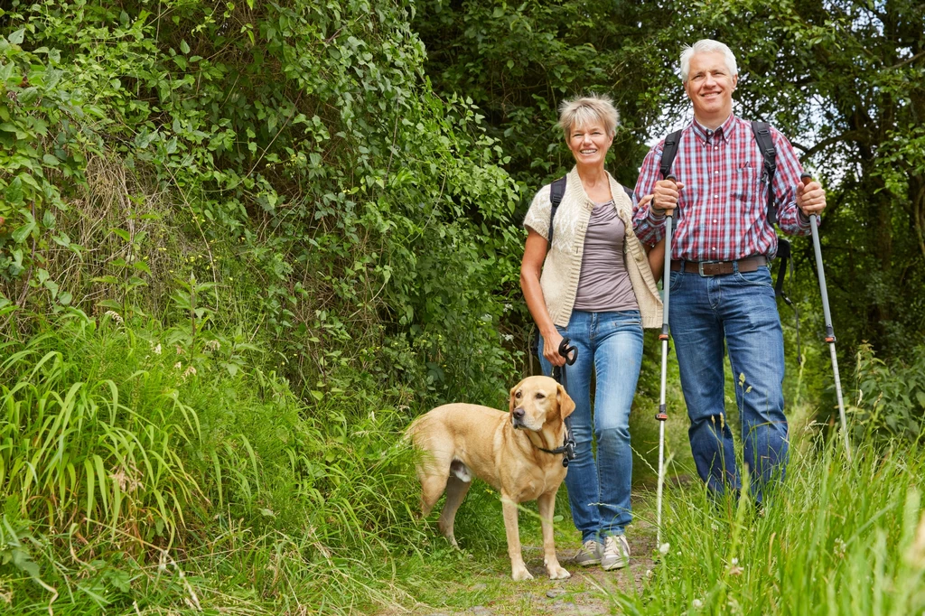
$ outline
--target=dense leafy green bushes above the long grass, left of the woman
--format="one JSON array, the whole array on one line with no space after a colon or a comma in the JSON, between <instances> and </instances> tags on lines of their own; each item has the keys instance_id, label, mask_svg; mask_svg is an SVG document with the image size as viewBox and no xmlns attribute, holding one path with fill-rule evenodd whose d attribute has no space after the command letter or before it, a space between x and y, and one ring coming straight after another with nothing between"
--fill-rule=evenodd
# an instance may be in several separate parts
<instances>
[{"instance_id":1,"label":"dense leafy green bushes above the long grass, left of the woman","mask_svg":"<svg viewBox=\"0 0 925 616\"><path fill-rule=\"evenodd\" d=\"M517 193L474 108L428 90L407 7L18 4L9 301L160 315L179 279L302 386L498 384Z\"/></svg>"}]
</instances>

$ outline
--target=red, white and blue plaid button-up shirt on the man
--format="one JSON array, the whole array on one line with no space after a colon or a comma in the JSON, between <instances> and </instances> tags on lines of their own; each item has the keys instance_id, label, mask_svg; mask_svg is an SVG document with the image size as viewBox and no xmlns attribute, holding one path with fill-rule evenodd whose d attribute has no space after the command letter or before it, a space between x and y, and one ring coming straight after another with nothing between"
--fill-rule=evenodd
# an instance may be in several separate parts
<instances>
[{"instance_id":1,"label":"red, white and blue plaid button-up shirt on the man","mask_svg":"<svg viewBox=\"0 0 925 616\"><path fill-rule=\"evenodd\" d=\"M809 219L796 207L796 183L802 168L793 146L776 129L771 138L777 148L774 198L778 225L789 235L809 233ZM662 179L660 141L646 156L636 182L637 197L651 194ZM672 259L734 261L754 254L773 258L777 234L768 224L768 187L762 179L764 159L751 124L730 116L709 132L697 121L681 133L672 173L685 184L674 211ZM654 216L648 204L634 208L635 233L645 244L665 234L664 216Z\"/></svg>"}]
</instances>

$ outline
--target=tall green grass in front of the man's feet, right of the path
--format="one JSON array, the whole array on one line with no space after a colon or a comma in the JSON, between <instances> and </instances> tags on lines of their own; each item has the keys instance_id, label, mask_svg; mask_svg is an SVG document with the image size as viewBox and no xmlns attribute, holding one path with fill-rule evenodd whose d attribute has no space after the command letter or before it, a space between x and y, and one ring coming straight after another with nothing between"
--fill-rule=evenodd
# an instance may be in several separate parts
<instances>
[{"instance_id":1,"label":"tall green grass in front of the man's feet, right of the path","mask_svg":"<svg viewBox=\"0 0 925 616\"><path fill-rule=\"evenodd\" d=\"M627 613L904 614L925 609L921 451L796 450L763 514L669 490L664 555Z\"/></svg>"}]
</instances>

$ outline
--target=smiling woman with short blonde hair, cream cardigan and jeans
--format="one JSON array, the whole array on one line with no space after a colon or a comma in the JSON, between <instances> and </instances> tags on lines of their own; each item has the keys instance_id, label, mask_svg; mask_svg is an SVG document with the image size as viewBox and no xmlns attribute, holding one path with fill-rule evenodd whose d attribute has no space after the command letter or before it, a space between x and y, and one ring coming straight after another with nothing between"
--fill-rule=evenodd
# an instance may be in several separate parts
<instances>
[{"instance_id":1,"label":"smiling woman with short blonde hair, cream cardigan and jeans","mask_svg":"<svg viewBox=\"0 0 925 616\"><path fill-rule=\"evenodd\" d=\"M580 565L619 569L629 563L623 530L632 521L633 453L629 416L642 363L643 327L661 326L661 300L645 250L633 232L633 203L604 169L617 128L604 96L565 101L559 125L575 159L553 218L550 186L541 188L524 219L527 228L521 288L542 340L540 363L549 375L562 365L563 337L578 359L567 369L575 402L576 457L565 486L582 534ZM542 276L540 274L542 273ZM591 452L591 376L596 376Z\"/></svg>"}]
</instances>

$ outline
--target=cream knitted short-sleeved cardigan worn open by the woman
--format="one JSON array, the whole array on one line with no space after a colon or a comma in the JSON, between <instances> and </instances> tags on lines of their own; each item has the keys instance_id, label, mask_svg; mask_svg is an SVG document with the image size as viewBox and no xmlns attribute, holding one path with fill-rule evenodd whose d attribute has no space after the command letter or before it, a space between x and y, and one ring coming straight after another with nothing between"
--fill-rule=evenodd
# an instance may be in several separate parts
<instances>
[{"instance_id":1,"label":"cream knitted short-sleeved cardigan worn open by the woman","mask_svg":"<svg viewBox=\"0 0 925 616\"><path fill-rule=\"evenodd\" d=\"M633 284L642 326L661 326L661 298L652 270L648 266L646 251L633 232L633 203L626 196L623 187L611 179L611 195L617 215L626 227L623 241L623 261ZM533 203L524 218L524 227L531 228L549 240L549 184L536 192ZM566 179L565 194L556 211L552 246L543 262L543 273L539 279L543 299L552 322L561 327L568 326L572 317L575 295L578 292L578 276L581 274L581 260L585 252L585 234L591 218L594 202L591 201L578 177L577 167Z\"/></svg>"}]
</instances>

